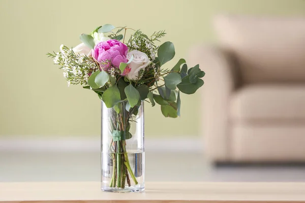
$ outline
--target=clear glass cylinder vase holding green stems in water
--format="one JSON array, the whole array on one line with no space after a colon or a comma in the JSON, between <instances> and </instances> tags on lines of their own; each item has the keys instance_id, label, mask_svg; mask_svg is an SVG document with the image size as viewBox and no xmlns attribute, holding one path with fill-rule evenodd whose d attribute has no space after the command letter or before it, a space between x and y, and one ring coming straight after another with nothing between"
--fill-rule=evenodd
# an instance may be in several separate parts
<instances>
[{"instance_id":1,"label":"clear glass cylinder vase holding green stems in water","mask_svg":"<svg viewBox=\"0 0 305 203\"><path fill-rule=\"evenodd\" d=\"M129 109L129 110L128 110ZM144 190L144 102L107 108L102 101L101 188L109 192Z\"/></svg>"}]
</instances>

